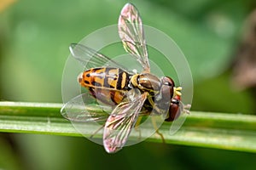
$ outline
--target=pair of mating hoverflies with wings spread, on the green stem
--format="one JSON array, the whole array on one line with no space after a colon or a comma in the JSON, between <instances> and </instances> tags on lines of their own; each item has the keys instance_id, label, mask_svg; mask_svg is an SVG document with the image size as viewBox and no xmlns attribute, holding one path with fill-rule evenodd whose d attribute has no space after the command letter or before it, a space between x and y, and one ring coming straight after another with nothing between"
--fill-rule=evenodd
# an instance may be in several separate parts
<instances>
[{"instance_id":1,"label":"pair of mating hoverflies with wings spread, on the green stem","mask_svg":"<svg viewBox=\"0 0 256 170\"><path fill-rule=\"evenodd\" d=\"M97 99L113 110L108 116L85 111L80 105L75 116L69 111L77 105L78 98L71 99L61 109L61 114L71 121L103 122L103 144L108 153L120 150L126 143L139 116L163 115L166 122L172 122L185 110L180 101L181 87L175 87L170 77L156 77L150 73L148 50L143 33L143 23L137 8L126 3L119 15L119 37L125 51L142 65L141 73L131 72L123 65L109 59L82 44L72 44L71 54L86 63L87 68L79 77L79 84L89 93L81 94L86 99ZM108 63L109 65L103 66Z\"/></svg>"}]
</instances>

